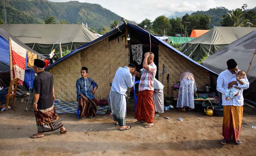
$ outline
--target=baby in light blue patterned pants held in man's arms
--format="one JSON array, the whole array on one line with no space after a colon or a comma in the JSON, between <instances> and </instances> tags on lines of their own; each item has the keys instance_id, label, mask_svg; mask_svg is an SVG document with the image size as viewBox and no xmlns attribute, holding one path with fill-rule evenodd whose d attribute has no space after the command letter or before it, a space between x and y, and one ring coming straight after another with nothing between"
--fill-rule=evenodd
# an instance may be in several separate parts
<instances>
[{"instance_id":1,"label":"baby in light blue patterned pants held in man's arms","mask_svg":"<svg viewBox=\"0 0 256 156\"><path fill-rule=\"evenodd\" d=\"M238 71L237 77L233 78L230 82L237 81L237 84L244 85L245 75L246 75L245 71ZM226 100L233 98L235 95L237 95L239 93L240 90L241 90L241 88L238 88L236 85L233 85L233 87L226 89Z\"/></svg>"}]
</instances>

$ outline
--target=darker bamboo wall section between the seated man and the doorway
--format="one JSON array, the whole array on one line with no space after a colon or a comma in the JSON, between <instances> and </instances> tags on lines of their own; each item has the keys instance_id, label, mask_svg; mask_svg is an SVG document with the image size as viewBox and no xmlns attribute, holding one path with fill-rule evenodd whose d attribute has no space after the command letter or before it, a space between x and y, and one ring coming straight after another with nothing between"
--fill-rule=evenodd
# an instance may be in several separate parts
<instances>
[{"instance_id":1,"label":"darker bamboo wall section between the seated man and the doorway","mask_svg":"<svg viewBox=\"0 0 256 156\"><path fill-rule=\"evenodd\" d=\"M106 99L110 92L109 83L114 79L118 67L128 66L129 49L125 48L125 40L108 41L108 38L96 43L81 52L81 65L89 70L88 77L98 84L95 96Z\"/></svg>"}]
</instances>

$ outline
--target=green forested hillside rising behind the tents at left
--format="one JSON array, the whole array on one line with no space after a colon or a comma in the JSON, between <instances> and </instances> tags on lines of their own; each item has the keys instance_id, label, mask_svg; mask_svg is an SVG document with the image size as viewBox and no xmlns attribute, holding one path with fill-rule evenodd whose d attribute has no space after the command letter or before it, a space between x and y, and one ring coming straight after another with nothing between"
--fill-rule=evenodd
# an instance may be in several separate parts
<instances>
[{"instance_id":1,"label":"green forested hillside rising behind the tents at left","mask_svg":"<svg viewBox=\"0 0 256 156\"><path fill-rule=\"evenodd\" d=\"M48 0L5 0L7 23L32 24L44 23L46 16L55 16L59 23L65 19L69 23L87 23L96 30L109 26L111 21L121 19L114 12L103 8L99 4L69 1L63 3ZM3 3L0 3L0 18L3 18Z\"/></svg>"}]
</instances>

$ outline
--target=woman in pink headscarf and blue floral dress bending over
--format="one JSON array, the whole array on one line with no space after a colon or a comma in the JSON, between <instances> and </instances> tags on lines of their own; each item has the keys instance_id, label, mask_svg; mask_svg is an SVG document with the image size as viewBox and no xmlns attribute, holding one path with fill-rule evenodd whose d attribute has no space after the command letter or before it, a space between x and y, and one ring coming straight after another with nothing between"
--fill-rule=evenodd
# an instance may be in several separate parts
<instances>
[{"instance_id":1,"label":"woman in pink headscarf and blue floral dress bending over","mask_svg":"<svg viewBox=\"0 0 256 156\"><path fill-rule=\"evenodd\" d=\"M180 89L178 94L177 108L182 111L195 108L194 95L196 95L196 81L192 71L185 71L180 75Z\"/></svg>"}]
</instances>

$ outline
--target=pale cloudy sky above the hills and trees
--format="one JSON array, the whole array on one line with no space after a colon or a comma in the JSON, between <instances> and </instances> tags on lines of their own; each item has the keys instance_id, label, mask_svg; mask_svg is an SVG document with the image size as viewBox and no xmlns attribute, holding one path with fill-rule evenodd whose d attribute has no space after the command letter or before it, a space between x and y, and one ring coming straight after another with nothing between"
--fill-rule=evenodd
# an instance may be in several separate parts
<instances>
[{"instance_id":1,"label":"pale cloudy sky above the hills and trees","mask_svg":"<svg viewBox=\"0 0 256 156\"><path fill-rule=\"evenodd\" d=\"M66 2L71 0L50 0L53 2ZM208 10L215 7L227 9L256 7L256 0L76 0L86 3L100 4L102 7L129 20L140 23L143 19L154 20L157 16L170 16L175 11Z\"/></svg>"}]
</instances>

